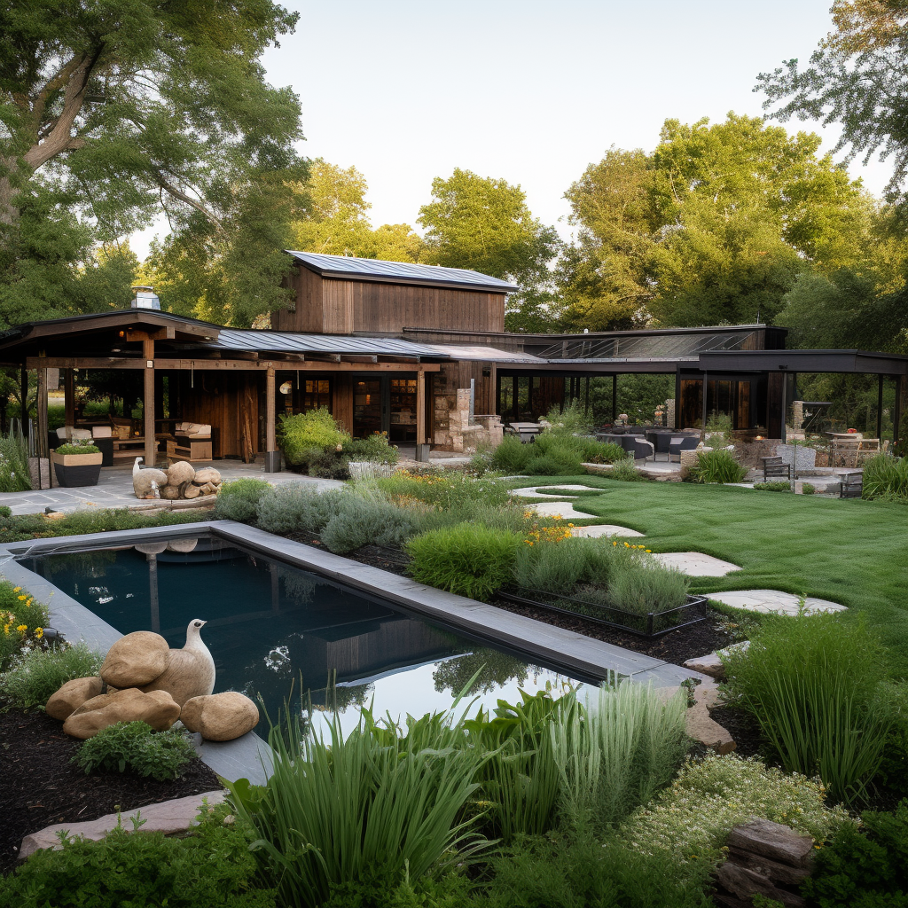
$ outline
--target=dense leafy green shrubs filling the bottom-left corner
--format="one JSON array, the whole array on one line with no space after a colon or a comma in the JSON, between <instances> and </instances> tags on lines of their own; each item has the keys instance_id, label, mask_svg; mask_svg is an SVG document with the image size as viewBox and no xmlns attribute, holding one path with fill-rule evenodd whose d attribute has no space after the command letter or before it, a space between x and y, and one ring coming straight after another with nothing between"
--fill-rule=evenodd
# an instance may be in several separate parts
<instances>
[{"instance_id":1,"label":"dense leafy green shrubs filling the bottom-left corner","mask_svg":"<svg viewBox=\"0 0 908 908\"><path fill-rule=\"evenodd\" d=\"M119 826L35 852L0 884L0 908L274 908L256 869L246 832L218 807L185 838Z\"/></svg>"}]
</instances>

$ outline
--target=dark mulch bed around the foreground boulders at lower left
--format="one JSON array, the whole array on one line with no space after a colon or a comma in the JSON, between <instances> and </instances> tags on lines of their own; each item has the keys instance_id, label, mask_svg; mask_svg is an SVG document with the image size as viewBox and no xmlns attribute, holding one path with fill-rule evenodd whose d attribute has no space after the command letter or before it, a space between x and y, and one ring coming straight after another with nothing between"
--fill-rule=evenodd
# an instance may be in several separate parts
<instances>
[{"instance_id":1,"label":"dark mulch bed around the foreground boulders at lower left","mask_svg":"<svg viewBox=\"0 0 908 908\"><path fill-rule=\"evenodd\" d=\"M174 782L138 775L85 775L69 761L81 741L43 712L0 713L0 873L15 865L25 835L57 823L82 823L120 810L221 788L193 760Z\"/></svg>"}]
</instances>

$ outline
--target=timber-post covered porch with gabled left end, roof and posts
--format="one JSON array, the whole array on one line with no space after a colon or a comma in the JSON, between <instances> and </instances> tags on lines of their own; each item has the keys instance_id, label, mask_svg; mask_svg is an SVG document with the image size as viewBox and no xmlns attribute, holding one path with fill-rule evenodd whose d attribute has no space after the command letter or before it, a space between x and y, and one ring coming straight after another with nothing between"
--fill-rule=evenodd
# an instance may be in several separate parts
<instances>
[{"instance_id":1,"label":"timber-post covered porch with gabled left end, roof and posts","mask_svg":"<svg viewBox=\"0 0 908 908\"><path fill-rule=\"evenodd\" d=\"M229 342L224 342L225 339ZM424 361L427 354L436 361ZM336 375L364 370L375 374L416 373L417 439L425 442L425 373L438 371L438 360L444 359L437 350L409 341L239 331L138 308L29 322L0 333L0 362L22 370L24 391L28 370L37 373L37 443L41 457L48 455L47 370L63 373L67 425L74 423L74 370L141 370L144 459L149 466L157 459L155 376L163 371L192 376L196 371L263 375L268 465L277 451L275 375L278 371Z\"/></svg>"}]
</instances>

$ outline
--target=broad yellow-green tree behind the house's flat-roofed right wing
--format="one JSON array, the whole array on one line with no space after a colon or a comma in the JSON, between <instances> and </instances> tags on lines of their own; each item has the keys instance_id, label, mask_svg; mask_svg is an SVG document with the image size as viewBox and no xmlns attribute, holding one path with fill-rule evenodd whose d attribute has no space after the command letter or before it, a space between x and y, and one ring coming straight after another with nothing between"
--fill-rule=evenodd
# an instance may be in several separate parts
<instances>
[{"instance_id":1,"label":"broad yellow-green tree behind the house's flat-roofed right wing","mask_svg":"<svg viewBox=\"0 0 908 908\"><path fill-rule=\"evenodd\" d=\"M729 114L666 120L652 154L608 152L567 193L577 327L772 321L804 268L859 255L873 206L819 143Z\"/></svg>"}]
</instances>

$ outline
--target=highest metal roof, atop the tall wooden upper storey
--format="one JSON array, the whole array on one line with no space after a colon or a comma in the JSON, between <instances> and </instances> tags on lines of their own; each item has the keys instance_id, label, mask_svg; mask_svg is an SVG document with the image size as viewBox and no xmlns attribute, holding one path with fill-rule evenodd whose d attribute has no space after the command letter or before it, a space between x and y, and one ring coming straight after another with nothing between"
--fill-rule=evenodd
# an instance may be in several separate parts
<instances>
[{"instance_id":1,"label":"highest metal roof, atop the tall wooden upper storey","mask_svg":"<svg viewBox=\"0 0 908 908\"><path fill-rule=\"evenodd\" d=\"M457 286L470 290L516 291L517 284L469 271L466 268L443 268L441 265L419 265L414 262L385 262L383 259L356 259L348 255L323 255L321 252L295 252L285 249L298 262L323 277L348 280L419 283Z\"/></svg>"}]
</instances>

